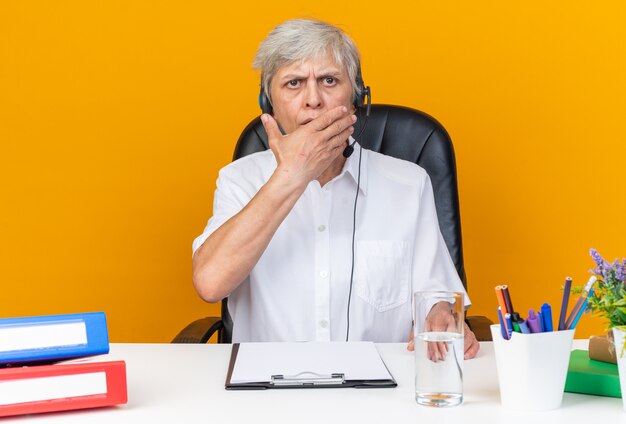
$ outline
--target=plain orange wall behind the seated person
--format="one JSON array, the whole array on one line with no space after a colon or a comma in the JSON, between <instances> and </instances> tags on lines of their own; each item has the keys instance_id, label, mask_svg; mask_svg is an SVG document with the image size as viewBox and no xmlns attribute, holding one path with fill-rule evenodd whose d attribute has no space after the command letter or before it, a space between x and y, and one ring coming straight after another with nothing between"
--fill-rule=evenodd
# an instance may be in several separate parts
<instances>
[{"instance_id":1,"label":"plain orange wall behind the seated person","mask_svg":"<svg viewBox=\"0 0 626 424\"><path fill-rule=\"evenodd\" d=\"M558 304L590 247L626 256L626 6L589 2L0 3L0 316L104 310L114 342L168 342L218 312L191 241L256 115L251 69L281 21L357 41L376 103L456 146L474 314L496 284ZM599 333L585 318L577 337Z\"/></svg>"}]
</instances>

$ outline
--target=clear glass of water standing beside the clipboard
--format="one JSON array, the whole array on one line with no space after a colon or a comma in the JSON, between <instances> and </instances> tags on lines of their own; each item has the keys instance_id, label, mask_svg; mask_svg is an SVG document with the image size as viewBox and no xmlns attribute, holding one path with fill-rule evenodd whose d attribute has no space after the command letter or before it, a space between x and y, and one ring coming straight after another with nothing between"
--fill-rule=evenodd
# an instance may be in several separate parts
<instances>
[{"instance_id":1,"label":"clear glass of water standing beside the clipboard","mask_svg":"<svg viewBox=\"0 0 626 424\"><path fill-rule=\"evenodd\" d=\"M415 400L445 407L463 402L463 293L431 291L413 295Z\"/></svg>"}]
</instances>

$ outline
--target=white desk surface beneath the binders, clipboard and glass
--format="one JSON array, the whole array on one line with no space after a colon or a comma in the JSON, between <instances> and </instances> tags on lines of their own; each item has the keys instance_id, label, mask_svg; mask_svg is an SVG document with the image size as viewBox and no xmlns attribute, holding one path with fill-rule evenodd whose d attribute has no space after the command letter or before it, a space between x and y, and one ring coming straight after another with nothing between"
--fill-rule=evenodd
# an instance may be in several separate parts
<instances>
[{"instance_id":1,"label":"white desk surface beneath the binders, clipboard and glass","mask_svg":"<svg viewBox=\"0 0 626 424\"><path fill-rule=\"evenodd\" d=\"M587 341L575 341L586 348ZM107 359L127 365L126 405L0 419L33 423L520 423L626 422L622 400L565 393L555 411L500 406L493 346L465 361L461 406L432 409L414 400L413 354L405 344L377 345L398 382L393 389L226 391L230 345L112 344ZM104 357L103 357L104 359Z\"/></svg>"}]
</instances>

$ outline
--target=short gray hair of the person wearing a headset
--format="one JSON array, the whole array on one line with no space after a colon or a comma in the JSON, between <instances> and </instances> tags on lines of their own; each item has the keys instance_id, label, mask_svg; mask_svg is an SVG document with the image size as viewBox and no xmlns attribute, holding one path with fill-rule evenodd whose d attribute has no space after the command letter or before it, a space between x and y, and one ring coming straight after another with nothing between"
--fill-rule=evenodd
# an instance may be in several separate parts
<instances>
[{"instance_id":1,"label":"short gray hair of the person wearing a headset","mask_svg":"<svg viewBox=\"0 0 626 424\"><path fill-rule=\"evenodd\" d=\"M356 84L359 50L346 33L322 21L293 19L278 25L259 46L252 66L261 71L261 86L271 102L270 83L276 71L325 53L330 53L337 65L345 67L356 99L361 94Z\"/></svg>"}]
</instances>

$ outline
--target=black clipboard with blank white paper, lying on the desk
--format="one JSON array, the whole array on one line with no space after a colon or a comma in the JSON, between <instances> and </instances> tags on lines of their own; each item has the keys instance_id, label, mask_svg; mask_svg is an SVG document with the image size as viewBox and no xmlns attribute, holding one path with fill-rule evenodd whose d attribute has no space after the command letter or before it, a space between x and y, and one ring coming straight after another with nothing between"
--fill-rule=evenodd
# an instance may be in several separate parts
<instances>
[{"instance_id":1,"label":"black clipboard with blank white paper, lying on the desk","mask_svg":"<svg viewBox=\"0 0 626 424\"><path fill-rule=\"evenodd\" d=\"M235 343L225 382L226 390L397 385L372 342Z\"/></svg>"}]
</instances>

